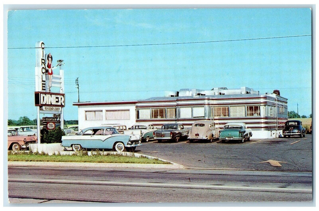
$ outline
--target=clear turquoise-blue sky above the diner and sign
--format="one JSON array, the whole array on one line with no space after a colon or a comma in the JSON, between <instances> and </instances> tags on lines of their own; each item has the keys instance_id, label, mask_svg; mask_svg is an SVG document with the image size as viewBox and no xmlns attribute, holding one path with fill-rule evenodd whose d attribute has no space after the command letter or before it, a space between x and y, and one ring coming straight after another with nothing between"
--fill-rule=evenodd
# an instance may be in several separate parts
<instances>
[{"instance_id":1,"label":"clear turquoise-blue sky above the diner and sign","mask_svg":"<svg viewBox=\"0 0 319 211\"><path fill-rule=\"evenodd\" d=\"M15 10L7 28L9 119L36 118L37 41L64 60L65 120L78 119L76 78L80 102L246 86L312 113L309 8Z\"/></svg>"}]
</instances>

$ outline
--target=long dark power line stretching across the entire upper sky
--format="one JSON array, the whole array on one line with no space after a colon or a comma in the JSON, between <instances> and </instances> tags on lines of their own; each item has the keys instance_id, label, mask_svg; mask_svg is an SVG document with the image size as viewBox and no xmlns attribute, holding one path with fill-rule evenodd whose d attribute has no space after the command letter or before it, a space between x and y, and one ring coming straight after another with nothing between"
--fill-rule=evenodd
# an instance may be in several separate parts
<instances>
[{"instance_id":1,"label":"long dark power line stretching across the entire upper sky","mask_svg":"<svg viewBox=\"0 0 319 211\"><path fill-rule=\"evenodd\" d=\"M262 38L249 38L249 39L235 39L235 40L218 40L218 41L195 41L195 42L170 42L170 43L151 43L151 44L131 44L131 45L100 45L100 46L64 46L64 47L45 47L47 49L53 48L105 48L105 47L127 47L127 46L149 46L149 45L178 45L178 44L194 44L194 43L210 43L210 42L229 42L229 41L248 41L248 40L265 40L265 39L278 39L278 38L291 38L291 37L304 37L312 36L311 34L293 35L293 36L280 36L280 37L262 37ZM8 49L37 49L40 47L23 47L23 48L8 48Z\"/></svg>"}]
</instances>

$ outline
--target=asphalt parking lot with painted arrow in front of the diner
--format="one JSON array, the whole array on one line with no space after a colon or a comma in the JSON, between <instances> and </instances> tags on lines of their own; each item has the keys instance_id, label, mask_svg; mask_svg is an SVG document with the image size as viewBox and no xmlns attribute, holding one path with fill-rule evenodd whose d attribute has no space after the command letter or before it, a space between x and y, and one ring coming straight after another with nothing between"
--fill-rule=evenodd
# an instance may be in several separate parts
<instances>
[{"instance_id":1,"label":"asphalt parking lot with painted arrow in front of the diner","mask_svg":"<svg viewBox=\"0 0 319 211\"><path fill-rule=\"evenodd\" d=\"M305 138L251 139L244 143L197 141L178 143L150 140L136 148L137 153L159 157L187 168L312 171L312 135ZM280 167L268 160L279 161ZM282 162L282 163L281 163Z\"/></svg>"}]
</instances>

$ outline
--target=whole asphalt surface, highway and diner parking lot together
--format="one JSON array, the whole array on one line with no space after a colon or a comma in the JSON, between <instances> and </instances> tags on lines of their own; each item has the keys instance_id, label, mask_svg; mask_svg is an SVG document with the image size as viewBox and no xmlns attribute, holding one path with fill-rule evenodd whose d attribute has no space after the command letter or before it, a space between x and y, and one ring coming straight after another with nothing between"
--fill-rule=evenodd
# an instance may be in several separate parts
<instances>
[{"instance_id":1,"label":"whole asphalt surface, highway and diner parking lot together","mask_svg":"<svg viewBox=\"0 0 319 211\"><path fill-rule=\"evenodd\" d=\"M244 143L150 141L136 150L187 169L9 166L9 200L13 204L312 201L308 134ZM269 160L281 166L265 162Z\"/></svg>"}]
</instances>

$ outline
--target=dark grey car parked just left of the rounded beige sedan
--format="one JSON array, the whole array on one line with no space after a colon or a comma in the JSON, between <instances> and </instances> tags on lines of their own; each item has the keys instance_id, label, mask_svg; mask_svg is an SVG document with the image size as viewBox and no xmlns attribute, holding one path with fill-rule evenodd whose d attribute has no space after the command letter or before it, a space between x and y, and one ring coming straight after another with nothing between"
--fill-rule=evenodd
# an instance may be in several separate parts
<instances>
[{"instance_id":1,"label":"dark grey car parked just left of the rounded beige sedan","mask_svg":"<svg viewBox=\"0 0 319 211\"><path fill-rule=\"evenodd\" d=\"M189 133L188 128L184 128L184 125L178 123L163 124L160 130L154 131L153 136L157 142L174 140L178 142L183 139L187 139Z\"/></svg>"}]
</instances>

